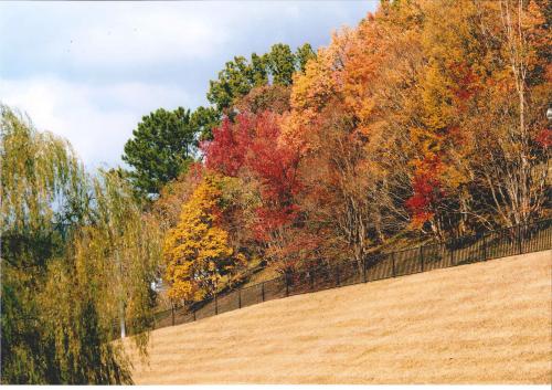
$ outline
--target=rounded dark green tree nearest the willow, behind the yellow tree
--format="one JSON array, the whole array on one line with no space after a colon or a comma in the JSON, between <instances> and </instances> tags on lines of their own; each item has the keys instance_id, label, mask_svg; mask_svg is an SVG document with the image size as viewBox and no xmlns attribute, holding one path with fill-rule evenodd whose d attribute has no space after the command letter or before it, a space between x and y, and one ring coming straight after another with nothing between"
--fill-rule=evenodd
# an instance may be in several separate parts
<instances>
[{"instance_id":1,"label":"rounded dark green tree nearest the willow, behind the yellow tree","mask_svg":"<svg viewBox=\"0 0 552 390\"><path fill-rule=\"evenodd\" d=\"M159 108L142 117L123 155L123 160L134 168L131 179L137 189L146 194L157 194L163 185L177 178L193 161L198 125L206 126L213 122L212 114L201 113L204 114L193 117L182 107L173 112Z\"/></svg>"}]
</instances>

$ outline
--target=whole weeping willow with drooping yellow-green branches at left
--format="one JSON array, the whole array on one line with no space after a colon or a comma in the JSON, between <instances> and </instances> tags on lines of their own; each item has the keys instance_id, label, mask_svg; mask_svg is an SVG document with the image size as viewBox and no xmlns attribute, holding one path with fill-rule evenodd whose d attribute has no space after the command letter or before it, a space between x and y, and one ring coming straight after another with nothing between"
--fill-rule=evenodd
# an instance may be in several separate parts
<instances>
[{"instance_id":1,"label":"whole weeping willow with drooping yellow-green branches at left","mask_svg":"<svg viewBox=\"0 0 552 390\"><path fill-rule=\"evenodd\" d=\"M91 177L71 146L1 108L1 380L130 383L114 327L145 352L155 222L117 171Z\"/></svg>"}]
</instances>

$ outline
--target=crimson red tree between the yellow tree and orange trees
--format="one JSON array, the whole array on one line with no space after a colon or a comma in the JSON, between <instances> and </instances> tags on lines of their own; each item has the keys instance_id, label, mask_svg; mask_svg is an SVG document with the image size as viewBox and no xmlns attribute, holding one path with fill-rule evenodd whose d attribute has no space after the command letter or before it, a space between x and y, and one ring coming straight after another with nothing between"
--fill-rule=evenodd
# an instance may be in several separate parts
<instances>
[{"instance_id":1,"label":"crimson red tree between the yellow tree and orange trees","mask_svg":"<svg viewBox=\"0 0 552 390\"><path fill-rule=\"evenodd\" d=\"M277 261L283 261L278 253L287 245L289 228L298 215L294 193L300 186L299 155L278 144L280 129L280 116L276 113L242 113L234 123L224 120L214 130L213 140L203 145L209 169L240 178L244 188L256 193L250 197L257 201L250 202L254 218L246 229ZM286 261L282 264L289 265Z\"/></svg>"}]
</instances>

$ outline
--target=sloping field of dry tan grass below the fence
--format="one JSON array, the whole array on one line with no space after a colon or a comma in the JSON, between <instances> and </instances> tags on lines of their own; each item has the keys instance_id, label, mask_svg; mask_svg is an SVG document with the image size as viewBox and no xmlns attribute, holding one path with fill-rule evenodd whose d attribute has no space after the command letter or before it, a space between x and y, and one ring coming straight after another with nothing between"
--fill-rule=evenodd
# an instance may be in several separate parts
<instances>
[{"instance_id":1,"label":"sloping field of dry tan grass below the fence","mask_svg":"<svg viewBox=\"0 0 552 390\"><path fill-rule=\"evenodd\" d=\"M155 330L136 383L550 383L552 251Z\"/></svg>"}]
</instances>

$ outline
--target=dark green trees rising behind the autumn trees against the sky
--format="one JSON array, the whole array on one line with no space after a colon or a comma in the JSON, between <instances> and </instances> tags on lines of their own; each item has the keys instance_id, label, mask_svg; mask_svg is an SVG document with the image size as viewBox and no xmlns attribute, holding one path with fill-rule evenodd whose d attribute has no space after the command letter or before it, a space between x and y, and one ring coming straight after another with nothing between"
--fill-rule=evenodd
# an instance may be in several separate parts
<instances>
[{"instance_id":1,"label":"dark green trees rising behind the autumn trees against the sky","mask_svg":"<svg viewBox=\"0 0 552 390\"><path fill-rule=\"evenodd\" d=\"M251 94L256 105L263 105L267 97L262 87L268 84L273 86L266 92L268 95L289 94L294 73L304 70L314 56L308 43L295 53L289 45L277 43L268 53L253 53L250 60L235 56L210 82L206 97L211 106L200 106L193 112L182 107L173 112L159 108L144 116L123 155L123 160L134 167L128 177L136 190L142 196L158 194L197 159L199 141L212 139L212 129L223 118L235 117L235 105L244 96Z\"/></svg>"}]
</instances>

